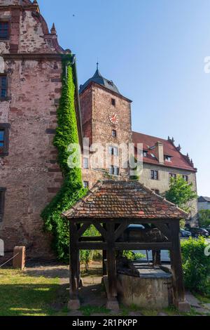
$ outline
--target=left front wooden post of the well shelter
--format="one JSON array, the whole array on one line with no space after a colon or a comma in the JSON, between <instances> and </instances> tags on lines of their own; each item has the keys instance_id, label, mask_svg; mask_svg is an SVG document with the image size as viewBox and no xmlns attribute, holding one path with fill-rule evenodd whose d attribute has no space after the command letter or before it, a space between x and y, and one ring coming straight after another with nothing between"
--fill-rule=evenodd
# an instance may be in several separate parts
<instances>
[{"instance_id":1,"label":"left front wooden post of the well shelter","mask_svg":"<svg viewBox=\"0 0 210 330\"><path fill-rule=\"evenodd\" d=\"M78 310L80 302L78 300L78 247L77 247L77 227L73 221L69 225L70 237L70 301L69 309Z\"/></svg>"}]
</instances>

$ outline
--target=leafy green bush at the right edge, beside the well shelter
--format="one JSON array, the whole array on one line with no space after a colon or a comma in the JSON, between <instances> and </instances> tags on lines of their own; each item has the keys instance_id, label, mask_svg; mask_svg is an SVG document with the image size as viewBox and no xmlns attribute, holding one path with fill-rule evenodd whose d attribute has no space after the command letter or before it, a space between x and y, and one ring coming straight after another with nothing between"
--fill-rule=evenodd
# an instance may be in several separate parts
<instances>
[{"instance_id":1,"label":"leafy green bush at the right edge, beside the well shelter","mask_svg":"<svg viewBox=\"0 0 210 330\"><path fill-rule=\"evenodd\" d=\"M181 242L183 272L186 289L207 293L210 275L210 256L204 250L208 243L204 237Z\"/></svg>"}]
</instances>

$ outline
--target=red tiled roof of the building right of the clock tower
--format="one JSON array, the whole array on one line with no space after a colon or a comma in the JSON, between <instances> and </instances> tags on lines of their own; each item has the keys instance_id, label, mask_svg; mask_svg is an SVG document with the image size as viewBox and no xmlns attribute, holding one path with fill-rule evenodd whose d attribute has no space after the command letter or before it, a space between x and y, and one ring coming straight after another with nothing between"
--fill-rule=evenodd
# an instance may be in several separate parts
<instances>
[{"instance_id":1,"label":"red tiled roof of the building right of the clock tower","mask_svg":"<svg viewBox=\"0 0 210 330\"><path fill-rule=\"evenodd\" d=\"M148 157L144 157L144 163L160 165L158 159L151 156L154 154L154 150L149 150L148 148L155 146L158 141L162 143L165 156L171 156L172 161L165 161L167 167L172 167L176 169L184 169L188 171L196 172L197 169L190 164L187 156L184 156L179 152L174 143L170 140L165 140L162 138L155 138L154 136L147 136L146 134L132 132L132 140L135 145L137 143L143 143L143 148L148 152Z\"/></svg>"}]
</instances>

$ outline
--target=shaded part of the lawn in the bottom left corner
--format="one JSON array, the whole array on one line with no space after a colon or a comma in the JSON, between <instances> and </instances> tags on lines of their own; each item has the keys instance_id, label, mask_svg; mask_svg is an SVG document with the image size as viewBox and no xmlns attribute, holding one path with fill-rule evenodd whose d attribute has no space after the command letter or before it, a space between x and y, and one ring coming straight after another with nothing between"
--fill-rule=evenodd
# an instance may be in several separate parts
<instances>
[{"instance_id":1,"label":"shaded part of the lawn in the bottom left corner","mask_svg":"<svg viewBox=\"0 0 210 330\"><path fill-rule=\"evenodd\" d=\"M59 284L1 284L0 316L53 315Z\"/></svg>"}]
</instances>

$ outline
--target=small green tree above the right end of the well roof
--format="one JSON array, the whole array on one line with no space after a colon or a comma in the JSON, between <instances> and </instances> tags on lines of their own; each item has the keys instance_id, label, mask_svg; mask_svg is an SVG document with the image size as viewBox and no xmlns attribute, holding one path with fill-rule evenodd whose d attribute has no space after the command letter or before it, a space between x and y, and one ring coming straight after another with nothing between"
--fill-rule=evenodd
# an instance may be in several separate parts
<instances>
[{"instance_id":1,"label":"small green tree above the right end of the well roof","mask_svg":"<svg viewBox=\"0 0 210 330\"><path fill-rule=\"evenodd\" d=\"M179 206L186 212L190 212L189 202L197 198L193 191L193 183L188 183L182 176L170 179L169 190L165 194L166 199Z\"/></svg>"}]
</instances>

